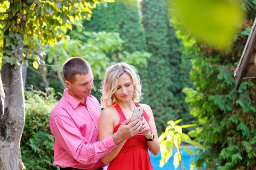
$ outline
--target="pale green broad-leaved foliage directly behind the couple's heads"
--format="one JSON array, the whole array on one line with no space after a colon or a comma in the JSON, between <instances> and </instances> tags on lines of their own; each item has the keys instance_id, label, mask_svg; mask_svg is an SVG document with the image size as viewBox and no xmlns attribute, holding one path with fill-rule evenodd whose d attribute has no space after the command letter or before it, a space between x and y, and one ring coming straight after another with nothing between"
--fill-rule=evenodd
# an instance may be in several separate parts
<instances>
[{"instance_id":1,"label":"pale green broad-leaved foliage directly behind the couple's heads","mask_svg":"<svg viewBox=\"0 0 256 170\"><path fill-rule=\"evenodd\" d=\"M90 63L94 76L99 79L102 79L105 69L113 63L111 59L112 61L122 59L130 64L136 63L145 66L147 58L151 56L148 52L133 52L131 54L122 52L123 40L116 32L85 32L83 30L77 32L74 30L70 36L73 39L61 40L55 46L45 46L47 61L52 63L56 58L58 63L62 64L70 57L82 57ZM119 51L118 55L116 55L116 51ZM111 59L108 58L107 53L113 55ZM121 55L122 58L120 58ZM55 67L52 69L57 71Z\"/></svg>"}]
</instances>

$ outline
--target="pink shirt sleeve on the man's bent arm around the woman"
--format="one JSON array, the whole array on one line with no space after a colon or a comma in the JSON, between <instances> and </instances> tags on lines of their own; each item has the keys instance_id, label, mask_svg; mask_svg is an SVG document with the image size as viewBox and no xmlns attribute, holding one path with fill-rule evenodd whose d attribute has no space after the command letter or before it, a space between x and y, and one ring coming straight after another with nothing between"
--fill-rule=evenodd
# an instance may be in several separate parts
<instances>
[{"instance_id":1,"label":"pink shirt sleeve on the man's bent arm around the woman","mask_svg":"<svg viewBox=\"0 0 256 170\"><path fill-rule=\"evenodd\" d=\"M117 147L112 136L102 141L86 144L86 137L81 135L73 120L64 115L55 115L49 125L58 144L81 164L93 163Z\"/></svg>"}]
</instances>

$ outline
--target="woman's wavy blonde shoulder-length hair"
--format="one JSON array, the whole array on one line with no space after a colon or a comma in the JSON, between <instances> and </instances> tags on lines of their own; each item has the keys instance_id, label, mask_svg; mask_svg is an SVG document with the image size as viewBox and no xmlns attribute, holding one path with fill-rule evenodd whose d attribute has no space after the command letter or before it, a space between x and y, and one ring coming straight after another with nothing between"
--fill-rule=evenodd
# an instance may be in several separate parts
<instances>
[{"instance_id":1,"label":"woman's wavy blonde shoulder-length hair","mask_svg":"<svg viewBox=\"0 0 256 170\"><path fill-rule=\"evenodd\" d=\"M120 75L126 72L131 75L134 85L133 101L138 103L142 99L140 76L137 74L134 66L123 62L117 63L106 70L105 77L102 79L102 88L100 90L102 98L100 101L103 108L116 105L117 98L114 93L118 86L118 79Z\"/></svg>"}]
</instances>

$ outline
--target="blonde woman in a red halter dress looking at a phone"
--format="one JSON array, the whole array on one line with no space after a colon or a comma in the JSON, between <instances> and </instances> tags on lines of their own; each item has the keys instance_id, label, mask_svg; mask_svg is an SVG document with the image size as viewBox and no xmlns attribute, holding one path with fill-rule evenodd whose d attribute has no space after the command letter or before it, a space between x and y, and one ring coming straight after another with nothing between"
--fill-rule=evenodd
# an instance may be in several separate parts
<instances>
[{"instance_id":1,"label":"blonde woman in a red halter dress looking at a phone","mask_svg":"<svg viewBox=\"0 0 256 170\"><path fill-rule=\"evenodd\" d=\"M102 81L101 104L105 109L99 118L99 140L112 135L123 121L131 119L135 107L144 107L143 126L139 133L120 142L102 158L103 163L110 162L108 170L153 170L148 149L157 155L160 144L151 108L137 103L141 97L140 77L133 66L118 63L106 70Z\"/></svg>"}]
</instances>

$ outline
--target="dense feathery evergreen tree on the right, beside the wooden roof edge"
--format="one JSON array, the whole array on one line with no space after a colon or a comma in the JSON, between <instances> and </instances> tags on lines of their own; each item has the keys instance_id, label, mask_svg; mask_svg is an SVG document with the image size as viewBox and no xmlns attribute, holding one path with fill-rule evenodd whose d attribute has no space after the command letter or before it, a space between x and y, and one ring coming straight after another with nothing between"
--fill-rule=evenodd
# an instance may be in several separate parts
<instances>
[{"instance_id":1,"label":"dense feathery evergreen tree on the right, beside the wooden roof edge","mask_svg":"<svg viewBox=\"0 0 256 170\"><path fill-rule=\"evenodd\" d=\"M195 153L195 168L210 170L253 170L256 167L256 93L255 80L243 80L235 90L233 72L243 51L248 29L256 16L256 1L242 1L247 20L235 37L235 44L224 53L195 42L192 34L180 32L173 18L177 36L185 51L192 53L190 71L193 88L185 88L190 114L199 127L190 133L207 149Z\"/></svg>"}]
</instances>

